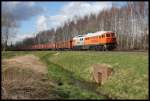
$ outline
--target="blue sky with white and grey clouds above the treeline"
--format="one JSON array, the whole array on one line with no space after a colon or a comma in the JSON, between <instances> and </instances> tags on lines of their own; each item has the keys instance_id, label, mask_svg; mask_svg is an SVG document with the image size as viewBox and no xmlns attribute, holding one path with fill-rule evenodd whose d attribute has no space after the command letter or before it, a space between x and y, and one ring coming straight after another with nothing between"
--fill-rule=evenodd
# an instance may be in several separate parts
<instances>
[{"instance_id":1,"label":"blue sky with white and grey clouds above the treeline","mask_svg":"<svg viewBox=\"0 0 150 101\"><path fill-rule=\"evenodd\" d=\"M75 16L98 14L111 6L112 2L2 2L2 12L11 12L20 24L15 42L39 31L57 28L68 19L74 20Z\"/></svg>"}]
</instances>

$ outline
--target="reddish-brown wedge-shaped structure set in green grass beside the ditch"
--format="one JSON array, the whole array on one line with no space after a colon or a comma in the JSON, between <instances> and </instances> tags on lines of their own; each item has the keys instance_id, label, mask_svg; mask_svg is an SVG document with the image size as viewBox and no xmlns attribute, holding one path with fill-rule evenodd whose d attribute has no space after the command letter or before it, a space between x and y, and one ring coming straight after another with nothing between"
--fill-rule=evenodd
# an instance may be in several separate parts
<instances>
[{"instance_id":1,"label":"reddish-brown wedge-shaped structure set in green grass beside the ditch","mask_svg":"<svg viewBox=\"0 0 150 101\"><path fill-rule=\"evenodd\" d=\"M112 70L112 68L109 68L109 65L96 64L92 67L93 79L101 85L111 75Z\"/></svg>"}]
</instances>

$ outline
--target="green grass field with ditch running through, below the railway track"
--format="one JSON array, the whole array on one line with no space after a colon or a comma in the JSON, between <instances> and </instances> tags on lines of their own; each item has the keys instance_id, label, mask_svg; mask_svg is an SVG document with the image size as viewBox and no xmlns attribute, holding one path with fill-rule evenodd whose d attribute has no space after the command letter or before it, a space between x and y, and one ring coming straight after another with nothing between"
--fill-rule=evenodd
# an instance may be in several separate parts
<instances>
[{"instance_id":1,"label":"green grass field with ditch running through, below the railway track","mask_svg":"<svg viewBox=\"0 0 150 101\"><path fill-rule=\"evenodd\" d=\"M3 58L34 54L48 67L48 77L59 86L54 92L64 99L148 99L148 53L95 51L2 52ZM93 83L93 64L109 64L111 77Z\"/></svg>"}]
</instances>

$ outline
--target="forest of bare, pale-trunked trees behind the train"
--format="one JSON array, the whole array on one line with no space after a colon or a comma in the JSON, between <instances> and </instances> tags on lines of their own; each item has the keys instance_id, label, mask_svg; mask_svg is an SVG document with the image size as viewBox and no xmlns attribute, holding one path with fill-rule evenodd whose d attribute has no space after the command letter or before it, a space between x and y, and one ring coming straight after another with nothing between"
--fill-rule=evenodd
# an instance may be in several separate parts
<instances>
[{"instance_id":1,"label":"forest of bare, pale-trunked trees behind the train","mask_svg":"<svg viewBox=\"0 0 150 101\"><path fill-rule=\"evenodd\" d=\"M75 16L74 20L68 20L56 29L38 32L35 37L17 42L15 47L66 41L96 31L113 31L118 50L148 50L148 20L148 2L126 2L121 7L114 3L110 9L103 9L98 14L83 18Z\"/></svg>"}]
</instances>

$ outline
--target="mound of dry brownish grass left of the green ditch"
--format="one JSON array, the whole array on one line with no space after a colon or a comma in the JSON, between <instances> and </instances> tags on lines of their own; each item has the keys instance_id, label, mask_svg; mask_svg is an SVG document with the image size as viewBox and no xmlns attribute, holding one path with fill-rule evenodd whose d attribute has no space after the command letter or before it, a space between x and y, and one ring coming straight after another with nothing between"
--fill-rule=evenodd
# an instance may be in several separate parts
<instances>
[{"instance_id":1,"label":"mound of dry brownish grass left of the green ditch","mask_svg":"<svg viewBox=\"0 0 150 101\"><path fill-rule=\"evenodd\" d=\"M55 99L47 67L34 55L2 60L2 99Z\"/></svg>"}]
</instances>

